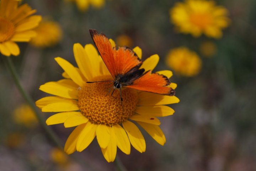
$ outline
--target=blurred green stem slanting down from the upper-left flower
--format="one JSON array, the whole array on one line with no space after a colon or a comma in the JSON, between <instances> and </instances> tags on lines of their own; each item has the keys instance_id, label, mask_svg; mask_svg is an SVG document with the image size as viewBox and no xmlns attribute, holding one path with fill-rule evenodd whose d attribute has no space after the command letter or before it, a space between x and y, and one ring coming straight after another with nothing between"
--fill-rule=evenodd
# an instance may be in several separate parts
<instances>
[{"instance_id":1,"label":"blurred green stem slanting down from the upper-left flower","mask_svg":"<svg viewBox=\"0 0 256 171\"><path fill-rule=\"evenodd\" d=\"M38 108L36 107L34 100L31 98L30 95L28 95L26 93L26 91L23 89L23 87L21 86L20 80L18 78L18 74L15 70L15 67L12 63L11 57L6 57L6 56L2 56L2 59L7 67L7 69L10 71L12 78L14 79L14 82L18 88L18 90L20 91L21 95L23 96L23 98L27 101L28 105L30 105L30 107L33 109L33 111L36 114L36 117L40 123L40 125L43 127L44 131L46 132L47 136L53 141L53 143L59 147L60 149L63 149L62 143L60 142L60 140L57 138L57 136L55 135L55 133L52 131L52 129L50 129L46 123L44 118L41 115L41 112L38 110Z\"/></svg>"}]
</instances>

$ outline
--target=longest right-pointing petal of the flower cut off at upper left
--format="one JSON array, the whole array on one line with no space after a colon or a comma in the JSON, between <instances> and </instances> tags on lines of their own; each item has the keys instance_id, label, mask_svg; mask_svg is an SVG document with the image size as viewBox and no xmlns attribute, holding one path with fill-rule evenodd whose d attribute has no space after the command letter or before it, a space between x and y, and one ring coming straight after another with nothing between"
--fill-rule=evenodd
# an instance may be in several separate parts
<instances>
[{"instance_id":1,"label":"longest right-pointing petal of the flower cut off at upper left","mask_svg":"<svg viewBox=\"0 0 256 171\"><path fill-rule=\"evenodd\" d=\"M21 24L19 24L15 31L16 32L23 32L30 29L33 29L38 26L39 22L42 20L42 16L34 15L29 18L27 18L25 21L23 21Z\"/></svg>"}]
</instances>

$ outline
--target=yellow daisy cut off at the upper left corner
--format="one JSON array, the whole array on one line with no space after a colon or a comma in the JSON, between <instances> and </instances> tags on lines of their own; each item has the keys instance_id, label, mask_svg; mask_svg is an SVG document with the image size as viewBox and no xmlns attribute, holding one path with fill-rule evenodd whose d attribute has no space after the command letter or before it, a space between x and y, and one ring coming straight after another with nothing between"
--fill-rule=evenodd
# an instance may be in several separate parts
<instances>
[{"instance_id":1,"label":"yellow daisy cut off at the upper left corner","mask_svg":"<svg viewBox=\"0 0 256 171\"><path fill-rule=\"evenodd\" d=\"M42 17L33 15L27 4L18 6L17 0L0 1L0 53L5 56L19 55L20 48L15 42L29 42L36 36L32 31L37 27Z\"/></svg>"}]
</instances>

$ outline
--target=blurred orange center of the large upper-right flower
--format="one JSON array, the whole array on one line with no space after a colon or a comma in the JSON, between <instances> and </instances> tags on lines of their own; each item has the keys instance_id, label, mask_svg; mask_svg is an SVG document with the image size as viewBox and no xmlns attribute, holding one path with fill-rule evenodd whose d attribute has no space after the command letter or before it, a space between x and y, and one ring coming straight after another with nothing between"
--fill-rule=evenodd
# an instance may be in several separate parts
<instances>
[{"instance_id":1,"label":"blurred orange center of the large upper-right flower","mask_svg":"<svg viewBox=\"0 0 256 171\"><path fill-rule=\"evenodd\" d=\"M204 29L212 24L212 16L208 13L194 13L191 14L190 21L195 26Z\"/></svg>"}]
</instances>

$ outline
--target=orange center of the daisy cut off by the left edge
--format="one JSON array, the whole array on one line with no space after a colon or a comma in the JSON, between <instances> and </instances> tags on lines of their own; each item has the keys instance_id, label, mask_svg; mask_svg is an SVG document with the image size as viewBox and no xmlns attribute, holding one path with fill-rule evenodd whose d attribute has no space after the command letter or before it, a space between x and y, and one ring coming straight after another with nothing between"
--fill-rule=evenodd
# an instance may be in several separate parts
<instances>
[{"instance_id":1,"label":"orange center of the daisy cut off by the left edge","mask_svg":"<svg viewBox=\"0 0 256 171\"><path fill-rule=\"evenodd\" d=\"M14 24L4 18L0 18L0 43L10 40L14 35L14 31Z\"/></svg>"}]
</instances>

